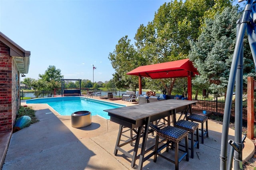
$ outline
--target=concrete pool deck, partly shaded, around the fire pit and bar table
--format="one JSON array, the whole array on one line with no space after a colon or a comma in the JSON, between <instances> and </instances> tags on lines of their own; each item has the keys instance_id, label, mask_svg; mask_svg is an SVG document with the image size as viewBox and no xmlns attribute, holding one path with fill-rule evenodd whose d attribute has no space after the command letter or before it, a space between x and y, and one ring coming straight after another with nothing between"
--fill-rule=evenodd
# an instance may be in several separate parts
<instances>
[{"instance_id":1,"label":"concrete pool deck, partly shaded, around the fire pit and bar table","mask_svg":"<svg viewBox=\"0 0 256 170\"><path fill-rule=\"evenodd\" d=\"M25 105L23 102L22 105ZM111 102L134 105L121 100ZM26 105L32 106L36 110L39 122L6 135L6 140L10 140L10 144L5 147L8 150L2 166L3 170L134 169L130 166L130 158L121 152L118 152L117 156L114 155L118 124L98 116L92 116L92 125L73 128L71 116L60 116L47 104ZM195 149L194 159L190 158L189 162L186 160L180 162L181 170L219 169L222 125L208 121L208 127L209 138L205 139L204 144L200 143L199 149ZM229 129L228 138L234 139L233 129ZM148 141L148 144L154 142L154 137L149 135ZM124 148L132 150L132 146L129 144ZM2 150L2 148L0 149ZM228 147L228 154L229 150ZM168 154L172 154L172 151ZM249 160L253 154L254 143L246 138L243 158ZM135 168L137 167L138 160ZM173 168L174 164L160 157L157 162L153 162L153 157L151 157L143 164L143 169Z\"/></svg>"}]
</instances>

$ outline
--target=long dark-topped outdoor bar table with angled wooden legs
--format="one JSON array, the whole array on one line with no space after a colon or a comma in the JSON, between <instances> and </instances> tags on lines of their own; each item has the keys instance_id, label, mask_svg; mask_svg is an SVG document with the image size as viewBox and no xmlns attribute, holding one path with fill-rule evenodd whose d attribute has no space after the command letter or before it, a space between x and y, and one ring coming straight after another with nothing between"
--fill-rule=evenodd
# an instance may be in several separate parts
<instances>
[{"instance_id":1,"label":"long dark-topped outdoor bar table with angled wooden legs","mask_svg":"<svg viewBox=\"0 0 256 170\"><path fill-rule=\"evenodd\" d=\"M196 102L197 101L169 99L153 103L147 103L144 105L134 105L104 110L108 112L108 115L110 116L110 121L113 121L120 125L114 154L116 155L117 151L119 150L132 158L132 167L135 166L135 161L139 158L138 169L142 169L143 162L149 158L148 156L147 158L144 158L144 155L146 153L146 139L148 137L150 122L154 122L159 119L168 117L168 125L170 125L170 116L173 115L173 123L175 123L176 113L189 109L191 114L191 105ZM143 135L141 135L142 126L144 126ZM123 127L128 127L131 129L138 128L136 133L137 135L134 145L134 152L132 156L121 148L124 145L120 145L120 138L122 135ZM142 147L140 155L137 156L140 137L143 137ZM126 144L128 143L129 142L126 142Z\"/></svg>"}]
</instances>

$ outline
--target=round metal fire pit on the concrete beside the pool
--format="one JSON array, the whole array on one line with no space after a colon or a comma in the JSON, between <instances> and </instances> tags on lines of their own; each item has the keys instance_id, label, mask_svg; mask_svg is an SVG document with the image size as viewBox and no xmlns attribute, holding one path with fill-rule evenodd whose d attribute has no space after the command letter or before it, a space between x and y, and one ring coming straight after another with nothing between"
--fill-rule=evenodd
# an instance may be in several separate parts
<instances>
[{"instance_id":1,"label":"round metal fire pit on the concrete beside the pool","mask_svg":"<svg viewBox=\"0 0 256 170\"><path fill-rule=\"evenodd\" d=\"M82 128L92 124L92 115L89 111L78 111L71 114L72 127Z\"/></svg>"}]
</instances>

